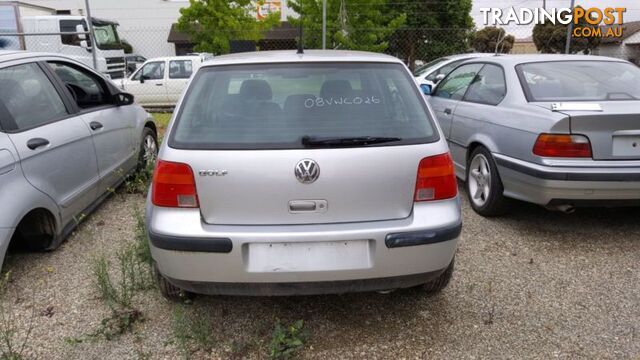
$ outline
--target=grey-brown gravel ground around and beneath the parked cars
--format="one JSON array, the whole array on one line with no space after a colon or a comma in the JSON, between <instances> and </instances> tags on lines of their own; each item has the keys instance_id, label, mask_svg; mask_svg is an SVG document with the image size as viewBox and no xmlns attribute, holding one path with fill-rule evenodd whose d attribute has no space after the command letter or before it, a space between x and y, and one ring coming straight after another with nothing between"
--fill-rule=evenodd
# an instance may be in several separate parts
<instances>
[{"instance_id":1,"label":"grey-brown gravel ground around and beneath the parked cars","mask_svg":"<svg viewBox=\"0 0 640 360\"><path fill-rule=\"evenodd\" d=\"M91 269L133 241L140 195L116 195L60 249L13 254L4 299L26 357L175 358L176 305L155 290L134 303L145 316L118 339L69 344L109 314ZM516 204L484 219L463 204L464 230L449 287L439 295L397 291L292 298L199 297L188 314L207 319L212 350L192 358L266 358L276 319L305 321L301 358L640 357L640 209L565 215Z\"/></svg>"}]
</instances>

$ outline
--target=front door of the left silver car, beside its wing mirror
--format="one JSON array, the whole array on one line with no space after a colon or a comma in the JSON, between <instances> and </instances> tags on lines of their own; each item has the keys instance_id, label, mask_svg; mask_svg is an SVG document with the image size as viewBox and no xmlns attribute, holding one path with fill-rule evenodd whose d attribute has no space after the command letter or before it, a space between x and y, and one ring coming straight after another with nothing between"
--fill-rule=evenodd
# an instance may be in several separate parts
<instances>
[{"instance_id":1,"label":"front door of the left silver car, beside its wing mirror","mask_svg":"<svg viewBox=\"0 0 640 360\"><path fill-rule=\"evenodd\" d=\"M64 61L48 65L91 131L100 174L98 194L102 194L136 165L135 109L116 106L106 81L93 71Z\"/></svg>"}]
</instances>

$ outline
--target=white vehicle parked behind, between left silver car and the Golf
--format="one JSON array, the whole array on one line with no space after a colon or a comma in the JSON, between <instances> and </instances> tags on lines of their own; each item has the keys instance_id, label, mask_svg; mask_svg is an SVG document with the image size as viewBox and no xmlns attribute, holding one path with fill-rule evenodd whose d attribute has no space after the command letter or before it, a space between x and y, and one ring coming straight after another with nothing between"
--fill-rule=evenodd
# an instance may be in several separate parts
<instances>
[{"instance_id":1,"label":"white vehicle parked behind, between left silver car and the Golf","mask_svg":"<svg viewBox=\"0 0 640 360\"><path fill-rule=\"evenodd\" d=\"M201 56L149 59L122 81L122 89L142 106L175 106L202 61Z\"/></svg>"}]
</instances>

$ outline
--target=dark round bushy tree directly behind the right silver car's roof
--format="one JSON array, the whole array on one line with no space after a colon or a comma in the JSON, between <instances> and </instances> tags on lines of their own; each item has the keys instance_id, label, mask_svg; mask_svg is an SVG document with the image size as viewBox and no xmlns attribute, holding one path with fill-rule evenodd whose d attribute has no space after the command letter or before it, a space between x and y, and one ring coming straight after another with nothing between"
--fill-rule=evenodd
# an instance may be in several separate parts
<instances>
[{"instance_id":1,"label":"dark round bushy tree directly behind the right silver car's roof","mask_svg":"<svg viewBox=\"0 0 640 360\"><path fill-rule=\"evenodd\" d=\"M591 25L587 23L584 18L581 18L574 27L590 27L595 31L598 25ZM567 28L568 25L562 25L560 23L554 25L549 22L534 26L533 42L536 44L538 51L545 54L564 53L567 41ZM578 52L589 54L593 49L597 48L598 45L600 45L600 37L572 36L569 52L572 54Z\"/></svg>"}]
</instances>

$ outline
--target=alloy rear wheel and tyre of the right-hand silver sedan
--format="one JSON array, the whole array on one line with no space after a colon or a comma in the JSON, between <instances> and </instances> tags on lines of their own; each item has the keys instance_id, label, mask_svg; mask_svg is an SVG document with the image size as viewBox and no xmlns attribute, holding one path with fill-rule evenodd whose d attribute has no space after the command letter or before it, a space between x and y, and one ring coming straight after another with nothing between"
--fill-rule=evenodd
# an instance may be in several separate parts
<instances>
[{"instance_id":1,"label":"alloy rear wheel and tyre of the right-hand silver sedan","mask_svg":"<svg viewBox=\"0 0 640 360\"><path fill-rule=\"evenodd\" d=\"M498 167L484 146L478 146L469 156L465 187L469 204L476 213L492 217L507 212L509 204L503 195Z\"/></svg>"}]
</instances>

